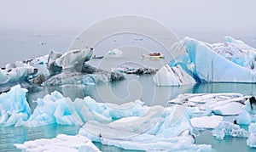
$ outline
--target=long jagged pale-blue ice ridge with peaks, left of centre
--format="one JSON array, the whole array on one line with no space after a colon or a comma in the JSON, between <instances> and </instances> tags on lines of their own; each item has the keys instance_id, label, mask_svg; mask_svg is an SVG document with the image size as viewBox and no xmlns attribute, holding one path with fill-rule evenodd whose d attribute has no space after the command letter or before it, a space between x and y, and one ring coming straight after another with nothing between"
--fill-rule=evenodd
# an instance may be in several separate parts
<instances>
[{"instance_id":1,"label":"long jagged pale-blue ice ridge with peaks, left of centre","mask_svg":"<svg viewBox=\"0 0 256 152\"><path fill-rule=\"evenodd\" d=\"M44 99L38 99L37 107L28 121L26 127L40 127L50 124L83 125L87 121L101 121L109 123L126 116L143 115L148 109L143 102L137 100L125 104L96 103L94 99L85 97L75 99L64 98L61 93L53 92ZM6 115L3 115L5 120Z\"/></svg>"}]
</instances>

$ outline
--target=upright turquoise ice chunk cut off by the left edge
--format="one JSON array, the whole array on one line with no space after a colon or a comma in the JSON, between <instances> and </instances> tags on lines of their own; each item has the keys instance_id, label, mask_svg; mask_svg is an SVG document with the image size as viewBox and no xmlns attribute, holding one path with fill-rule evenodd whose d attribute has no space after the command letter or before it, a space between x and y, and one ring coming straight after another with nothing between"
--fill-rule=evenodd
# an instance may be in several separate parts
<instances>
[{"instance_id":1,"label":"upright turquoise ice chunk cut off by the left edge","mask_svg":"<svg viewBox=\"0 0 256 152\"><path fill-rule=\"evenodd\" d=\"M25 88L20 85L11 87L8 93L0 94L0 124L5 126L20 126L27 121L31 110L26 102Z\"/></svg>"}]
</instances>

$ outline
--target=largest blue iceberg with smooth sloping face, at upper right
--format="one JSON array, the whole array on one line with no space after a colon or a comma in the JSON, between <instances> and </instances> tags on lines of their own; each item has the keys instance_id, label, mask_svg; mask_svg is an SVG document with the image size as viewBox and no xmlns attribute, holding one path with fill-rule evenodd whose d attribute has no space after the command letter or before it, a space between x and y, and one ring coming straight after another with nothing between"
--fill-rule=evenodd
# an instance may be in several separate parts
<instances>
[{"instance_id":1,"label":"largest blue iceberg with smooth sloping face, at upper right","mask_svg":"<svg viewBox=\"0 0 256 152\"><path fill-rule=\"evenodd\" d=\"M169 65L172 68L179 68L177 65L181 65L182 68L179 69L187 72L186 75L180 75L176 79L182 80L189 75L194 78L190 83L195 81L255 83L255 48L232 37L225 37L225 40L224 43L210 44L185 37L182 41L175 43L172 48L183 53L172 59ZM162 82L166 83L160 83L160 85L173 85L170 81L173 81L172 77L175 77L175 73L167 71L162 75L166 75L159 76Z\"/></svg>"}]
</instances>

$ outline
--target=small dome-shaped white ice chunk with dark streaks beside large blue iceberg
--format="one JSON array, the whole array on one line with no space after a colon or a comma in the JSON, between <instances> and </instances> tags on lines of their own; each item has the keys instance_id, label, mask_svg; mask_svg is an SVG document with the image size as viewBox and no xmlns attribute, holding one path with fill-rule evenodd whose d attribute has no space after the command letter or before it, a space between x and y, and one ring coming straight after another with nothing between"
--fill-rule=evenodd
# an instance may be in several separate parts
<instances>
[{"instance_id":1,"label":"small dome-shaped white ice chunk with dark streaks beside large blue iceberg","mask_svg":"<svg viewBox=\"0 0 256 152\"><path fill-rule=\"evenodd\" d=\"M165 65L156 72L154 83L157 86L182 86L195 84L196 82L180 65L175 67Z\"/></svg>"}]
</instances>

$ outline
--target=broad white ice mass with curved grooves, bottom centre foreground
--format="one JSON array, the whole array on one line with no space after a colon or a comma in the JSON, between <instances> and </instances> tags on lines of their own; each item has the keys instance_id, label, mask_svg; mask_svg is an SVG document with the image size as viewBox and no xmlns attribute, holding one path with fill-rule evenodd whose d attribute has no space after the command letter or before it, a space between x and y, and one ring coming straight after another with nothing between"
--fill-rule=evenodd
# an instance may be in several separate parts
<instances>
[{"instance_id":1,"label":"broad white ice mass with curved grooves, bottom centre foreground","mask_svg":"<svg viewBox=\"0 0 256 152\"><path fill-rule=\"evenodd\" d=\"M211 151L211 145L195 144L188 115L180 117L172 108L150 107L144 115L102 124L88 121L79 134L122 149L151 151Z\"/></svg>"}]
</instances>

